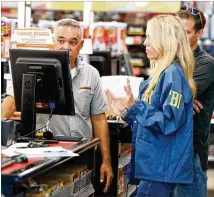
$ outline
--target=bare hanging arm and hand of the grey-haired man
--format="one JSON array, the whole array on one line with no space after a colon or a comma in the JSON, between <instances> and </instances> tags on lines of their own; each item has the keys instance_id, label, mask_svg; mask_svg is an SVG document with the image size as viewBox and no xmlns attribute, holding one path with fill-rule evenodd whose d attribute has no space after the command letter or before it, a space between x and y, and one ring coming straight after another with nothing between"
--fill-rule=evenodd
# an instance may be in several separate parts
<instances>
[{"instance_id":1,"label":"bare hanging arm and hand of the grey-haired man","mask_svg":"<svg viewBox=\"0 0 214 197\"><path fill-rule=\"evenodd\" d=\"M113 173L111 168L110 146L109 146L109 130L106 115L98 114L91 115L92 127L94 131L94 137L100 138L100 152L102 155L102 166L100 169L100 181L104 181L106 176L106 185L104 192L108 191L108 188L113 179Z\"/></svg>"}]
</instances>

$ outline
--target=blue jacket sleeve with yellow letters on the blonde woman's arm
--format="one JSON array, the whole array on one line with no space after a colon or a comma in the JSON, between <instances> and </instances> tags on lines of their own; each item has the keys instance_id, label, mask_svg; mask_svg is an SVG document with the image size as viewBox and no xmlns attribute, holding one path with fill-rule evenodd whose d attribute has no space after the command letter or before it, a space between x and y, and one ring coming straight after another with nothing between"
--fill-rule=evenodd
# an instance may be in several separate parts
<instances>
[{"instance_id":1,"label":"blue jacket sleeve with yellow letters on the blonde woman's arm","mask_svg":"<svg viewBox=\"0 0 214 197\"><path fill-rule=\"evenodd\" d=\"M193 100L189 87L183 84L183 78L173 71L165 73L156 88L161 92L155 92L159 97L160 107L154 103L138 100L127 111L123 119L130 125L133 122L151 132L161 132L163 135L174 134L192 114ZM188 111L189 110L189 111ZM191 114L189 114L191 113Z\"/></svg>"}]
</instances>

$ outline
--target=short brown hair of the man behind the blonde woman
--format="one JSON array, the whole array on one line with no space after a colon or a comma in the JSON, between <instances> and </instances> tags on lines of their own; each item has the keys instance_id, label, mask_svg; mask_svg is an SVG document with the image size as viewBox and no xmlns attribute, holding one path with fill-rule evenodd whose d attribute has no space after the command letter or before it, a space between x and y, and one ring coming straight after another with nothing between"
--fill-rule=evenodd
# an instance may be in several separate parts
<instances>
[{"instance_id":1,"label":"short brown hair of the man behind the blonde woman","mask_svg":"<svg viewBox=\"0 0 214 197\"><path fill-rule=\"evenodd\" d=\"M188 10L179 10L177 12L177 16L180 19L192 19L193 21L195 21L195 26L194 29L195 31L199 31L201 29L204 29L204 26L206 24L206 18L203 14L203 12L201 12L199 9L197 9L199 11L199 13L197 15L192 14L191 12L189 12Z\"/></svg>"}]
</instances>

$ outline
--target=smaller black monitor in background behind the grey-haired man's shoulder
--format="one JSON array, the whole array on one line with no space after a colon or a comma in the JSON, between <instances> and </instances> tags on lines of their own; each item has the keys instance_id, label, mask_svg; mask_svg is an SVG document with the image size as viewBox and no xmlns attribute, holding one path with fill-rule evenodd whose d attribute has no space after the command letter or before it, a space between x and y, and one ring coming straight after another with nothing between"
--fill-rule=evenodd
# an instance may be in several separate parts
<instances>
[{"instance_id":1,"label":"smaller black monitor in background behind the grey-haired man's shoulder","mask_svg":"<svg viewBox=\"0 0 214 197\"><path fill-rule=\"evenodd\" d=\"M89 55L90 64L95 67L100 76L111 76L111 52L110 51L93 51Z\"/></svg>"}]
</instances>

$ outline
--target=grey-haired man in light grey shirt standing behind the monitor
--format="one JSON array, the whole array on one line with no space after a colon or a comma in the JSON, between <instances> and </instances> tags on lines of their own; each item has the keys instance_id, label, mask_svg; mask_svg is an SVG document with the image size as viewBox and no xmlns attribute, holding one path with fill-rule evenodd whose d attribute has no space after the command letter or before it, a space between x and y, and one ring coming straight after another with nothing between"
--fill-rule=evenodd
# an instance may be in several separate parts
<instances>
[{"instance_id":1,"label":"grey-haired man in light grey shirt standing behind the monitor","mask_svg":"<svg viewBox=\"0 0 214 197\"><path fill-rule=\"evenodd\" d=\"M53 115L49 127L54 135L65 136L77 133L84 137L92 137L93 130L94 137L100 138L102 154L100 181L103 182L106 176L104 192L107 192L113 178L108 123L105 116L107 104L98 71L77 58L83 42L82 28L77 21L63 19L57 22L54 29L54 49L69 50L76 114ZM3 118L10 118L16 110L13 89L7 94L2 103ZM37 115L37 123L44 126L47 120L47 114Z\"/></svg>"}]
</instances>

